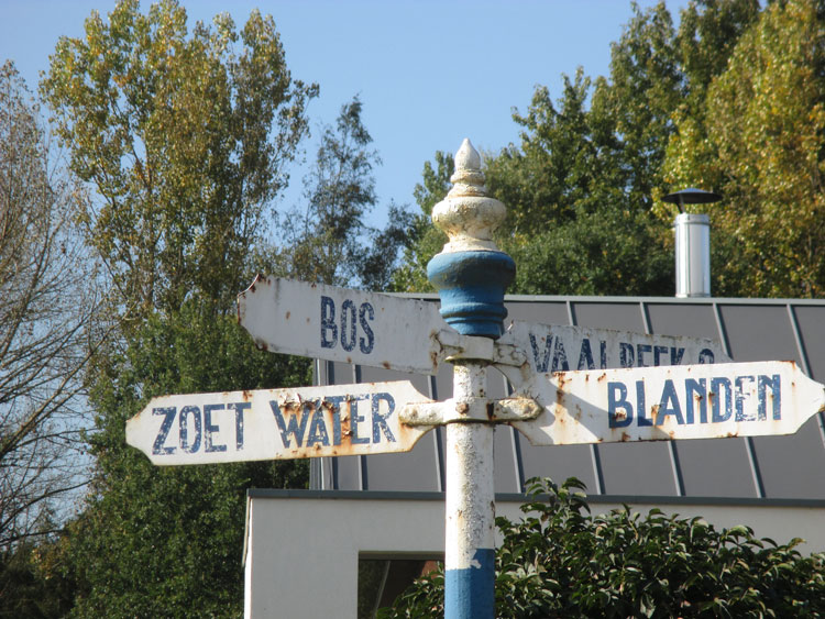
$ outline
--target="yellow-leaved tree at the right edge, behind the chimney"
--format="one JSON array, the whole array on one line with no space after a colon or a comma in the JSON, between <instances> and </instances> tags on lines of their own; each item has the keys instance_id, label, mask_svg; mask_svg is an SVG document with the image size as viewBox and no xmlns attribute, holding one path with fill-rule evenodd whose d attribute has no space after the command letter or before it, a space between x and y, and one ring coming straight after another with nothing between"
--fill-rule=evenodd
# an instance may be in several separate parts
<instances>
[{"instance_id":1,"label":"yellow-leaved tree at the right edge, behind the chimney","mask_svg":"<svg viewBox=\"0 0 825 619\"><path fill-rule=\"evenodd\" d=\"M823 23L812 0L769 4L669 145L671 184L724 196L706 211L719 294L825 290Z\"/></svg>"}]
</instances>

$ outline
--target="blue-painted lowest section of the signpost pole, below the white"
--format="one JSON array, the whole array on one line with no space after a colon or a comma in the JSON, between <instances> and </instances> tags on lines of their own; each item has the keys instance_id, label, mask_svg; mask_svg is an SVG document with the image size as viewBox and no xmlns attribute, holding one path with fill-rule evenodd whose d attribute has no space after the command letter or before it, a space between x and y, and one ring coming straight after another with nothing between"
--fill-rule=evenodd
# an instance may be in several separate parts
<instances>
[{"instance_id":1,"label":"blue-painted lowest section of the signpost pole, below the white","mask_svg":"<svg viewBox=\"0 0 825 619\"><path fill-rule=\"evenodd\" d=\"M444 619L495 617L495 550L477 549L472 563L444 571Z\"/></svg>"}]
</instances>

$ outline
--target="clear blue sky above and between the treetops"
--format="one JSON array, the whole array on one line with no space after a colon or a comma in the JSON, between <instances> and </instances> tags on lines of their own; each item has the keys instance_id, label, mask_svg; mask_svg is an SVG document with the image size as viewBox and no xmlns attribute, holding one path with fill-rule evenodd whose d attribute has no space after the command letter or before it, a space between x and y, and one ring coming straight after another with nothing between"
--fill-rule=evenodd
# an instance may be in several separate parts
<instances>
[{"instance_id":1,"label":"clear blue sky above and between the treetops","mask_svg":"<svg viewBox=\"0 0 825 619\"><path fill-rule=\"evenodd\" d=\"M637 0L641 9L654 0ZM150 2L143 0L144 10ZM518 143L513 110L527 111L538 85L557 99L562 75L607 75L610 43L630 0L183 0L189 21L229 11L240 29L258 8L272 14L294 78L317 82L314 136L359 96L382 165L375 170L381 225L391 200L414 205L413 189L436 151L464 137L496 152ZM688 0L667 0L678 23ZM81 36L84 20L114 0L0 0L0 62L14 60L34 90L59 36ZM311 162L316 143L306 144ZM284 207L298 206L307 164L290 173Z\"/></svg>"}]
</instances>

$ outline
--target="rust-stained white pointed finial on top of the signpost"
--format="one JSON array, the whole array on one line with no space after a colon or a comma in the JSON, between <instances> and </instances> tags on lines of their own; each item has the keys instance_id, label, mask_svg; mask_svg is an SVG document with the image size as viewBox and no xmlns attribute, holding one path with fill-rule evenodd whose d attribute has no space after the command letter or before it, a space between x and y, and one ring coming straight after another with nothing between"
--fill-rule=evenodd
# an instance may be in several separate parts
<instances>
[{"instance_id":1,"label":"rust-stained white pointed finial on top of the signpost","mask_svg":"<svg viewBox=\"0 0 825 619\"><path fill-rule=\"evenodd\" d=\"M450 181L453 187L447 198L432 209L432 222L450 237L441 253L497 252L493 231L504 221L507 209L487 196L481 156L468 139L455 153L455 173Z\"/></svg>"}]
</instances>

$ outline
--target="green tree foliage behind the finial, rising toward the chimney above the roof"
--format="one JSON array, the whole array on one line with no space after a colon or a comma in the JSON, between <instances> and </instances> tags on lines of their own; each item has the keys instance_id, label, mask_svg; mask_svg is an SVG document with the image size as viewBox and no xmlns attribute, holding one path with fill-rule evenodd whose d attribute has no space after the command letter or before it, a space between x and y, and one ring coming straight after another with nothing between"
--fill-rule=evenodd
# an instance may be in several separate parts
<instances>
[{"instance_id":1,"label":"green tree foliage behind the finial, rising toward the chimney above the roof","mask_svg":"<svg viewBox=\"0 0 825 619\"><path fill-rule=\"evenodd\" d=\"M484 161L490 191L508 209L497 241L516 259L510 292L673 294L673 211L657 200L669 183L678 189L685 184L666 166L669 143L684 126L704 126L696 119L706 113L705 93L759 11L757 0L697 0L676 30L663 2L645 11L634 5L612 45L608 76L591 79L581 69L563 76L557 100L547 87L536 88L527 112L513 117L519 142ZM704 135L696 134L691 147ZM449 178L439 157L427 164L419 186L421 214L414 247L395 276L398 289L431 288L426 264L443 235L427 217ZM714 239L719 236L714 274L741 283L722 288L752 294L745 280L724 275L729 259L739 261L734 269L751 268L751 262L725 250L728 231Z\"/></svg>"}]
</instances>

